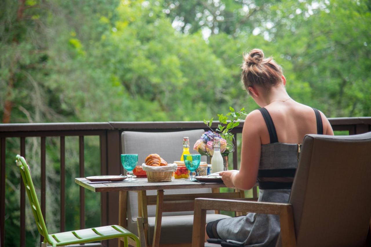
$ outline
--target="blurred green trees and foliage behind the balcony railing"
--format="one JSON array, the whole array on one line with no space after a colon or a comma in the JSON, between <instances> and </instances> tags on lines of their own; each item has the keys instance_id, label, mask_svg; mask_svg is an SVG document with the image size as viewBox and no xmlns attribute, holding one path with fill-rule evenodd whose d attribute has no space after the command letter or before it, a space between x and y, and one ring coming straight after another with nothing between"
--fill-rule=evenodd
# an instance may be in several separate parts
<instances>
[{"instance_id":1,"label":"blurred green trees and foliage behind the balcony railing","mask_svg":"<svg viewBox=\"0 0 371 247\"><path fill-rule=\"evenodd\" d=\"M229 106L256 109L240 83L242 54L283 66L296 101L328 117L371 115L370 0L4 0L3 123L189 121ZM39 181L39 140L26 139ZM99 140L86 137L86 175ZM59 140L47 138L47 226L59 230ZM79 227L78 139L66 138L66 230ZM6 246L19 246L19 173L6 142ZM36 183L36 187L39 184ZM86 193L86 226L100 224ZM26 212L26 246L39 241Z\"/></svg>"}]
</instances>

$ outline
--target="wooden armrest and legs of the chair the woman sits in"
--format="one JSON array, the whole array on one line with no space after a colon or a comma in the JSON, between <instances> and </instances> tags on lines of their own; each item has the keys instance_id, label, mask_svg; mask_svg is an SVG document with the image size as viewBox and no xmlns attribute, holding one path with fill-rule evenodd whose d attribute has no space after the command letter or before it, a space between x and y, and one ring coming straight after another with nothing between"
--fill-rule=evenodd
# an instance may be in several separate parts
<instances>
[{"instance_id":1,"label":"wooden armrest and legs of the chair the woman sits in","mask_svg":"<svg viewBox=\"0 0 371 247\"><path fill-rule=\"evenodd\" d=\"M296 247L296 237L291 204L211 198L196 198L194 201L192 247L204 246L206 210L278 214L280 216L282 246Z\"/></svg>"}]
</instances>

